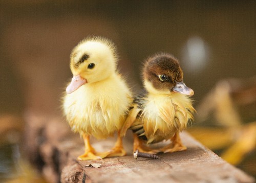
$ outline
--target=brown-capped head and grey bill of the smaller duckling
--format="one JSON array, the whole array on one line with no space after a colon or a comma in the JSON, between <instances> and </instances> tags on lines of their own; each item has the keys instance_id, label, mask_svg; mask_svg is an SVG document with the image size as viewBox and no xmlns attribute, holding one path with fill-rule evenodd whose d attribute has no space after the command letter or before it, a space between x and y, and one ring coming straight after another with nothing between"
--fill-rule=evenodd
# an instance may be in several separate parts
<instances>
[{"instance_id":1,"label":"brown-capped head and grey bill of the smaller duckling","mask_svg":"<svg viewBox=\"0 0 256 183\"><path fill-rule=\"evenodd\" d=\"M144 86L149 93L170 94L172 92L193 96L193 89L183 83L183 72L179 61L169 54L156 54L148 58L143 68Z\"/></svg>"}]
</instances>

